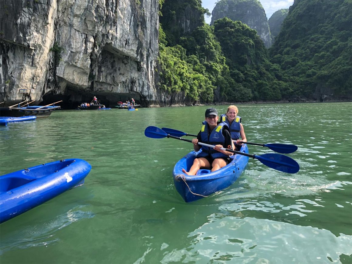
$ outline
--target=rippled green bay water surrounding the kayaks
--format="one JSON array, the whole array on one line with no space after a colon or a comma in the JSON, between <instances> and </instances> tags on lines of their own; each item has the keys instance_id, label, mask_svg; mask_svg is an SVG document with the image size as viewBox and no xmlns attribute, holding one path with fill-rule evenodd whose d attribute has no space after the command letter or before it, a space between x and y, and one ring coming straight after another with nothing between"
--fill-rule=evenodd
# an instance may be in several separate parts
<instances>
[{"instance_id":1,"label":"rippled green bay water surrounding the kayaks","mask_svg":"<svg viewBox=\"0 0 352 264\"><path fill-rule=\"evenodd\" d=\"M56 111L0 127L0 175L92 165L83 186L1 224L0 262L351 263L352 104L239 105L248 141L297 145L300 171L250 159L231 187L185 203L172 169L192 144L144 129L196 134L206 108Z\"/></svg>"}]
</instances>

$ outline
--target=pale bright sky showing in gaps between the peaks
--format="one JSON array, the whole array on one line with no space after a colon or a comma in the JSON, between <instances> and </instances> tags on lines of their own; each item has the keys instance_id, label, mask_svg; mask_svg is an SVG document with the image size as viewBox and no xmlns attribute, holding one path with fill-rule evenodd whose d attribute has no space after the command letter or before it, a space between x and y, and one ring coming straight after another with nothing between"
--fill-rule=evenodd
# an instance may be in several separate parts
<instances>
[{"instance_id":1,"label":"pale bright sky showing in gaps between the peaks","mask_svg":"<svg viewBox=\"0 0 352 264\"><path fill-rule=\"evenodd\" d=\"M266 17L269 20L271 15L276 11L278 11L279 9L289 8L291 5L293 5L294 0L259 0L259 1L260 1L260 4L262 4L265 10ZM202 6L204 8L208 8L211 14L214 9L214 6L216 5L216 2L218 2L218 0L202 0ZM205 15L204 18L207 24L210 24L210 22L212 21L211 15L210 17L207 17Z\"/></svg>"}]
</instances>

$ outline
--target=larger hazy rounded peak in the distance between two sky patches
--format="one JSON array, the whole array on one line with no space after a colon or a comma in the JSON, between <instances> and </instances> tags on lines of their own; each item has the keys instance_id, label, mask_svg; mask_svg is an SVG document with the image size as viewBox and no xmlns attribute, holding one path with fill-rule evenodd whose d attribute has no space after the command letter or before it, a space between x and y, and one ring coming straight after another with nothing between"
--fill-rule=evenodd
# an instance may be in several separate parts
<instances>
[{"instance_id":1,"label":"larger hazy rounded peak in the distance between two sky patches","mask_svg":"<svg viewBox=\"0 0 352 264\"><path fill-rule=\"evenodd\" d=\"M212 12L212 22L223 17L241 21L258 32L266 48L271 46L268 19L258 0L220 0Z\"/></svg>"}]
</instances>

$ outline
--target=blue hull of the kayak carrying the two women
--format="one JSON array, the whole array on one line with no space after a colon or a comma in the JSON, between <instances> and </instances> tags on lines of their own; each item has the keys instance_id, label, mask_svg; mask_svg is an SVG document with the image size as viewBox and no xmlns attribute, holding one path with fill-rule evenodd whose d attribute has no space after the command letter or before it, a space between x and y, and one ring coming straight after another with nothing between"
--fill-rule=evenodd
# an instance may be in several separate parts
<instances>
[{"instance_id":1,"label":"blue hull of the kayak carrying the two women","mask_svg":"<svg viewBox=\"0 0 352 264\"><path fill-rule=\"evenodd\" d=\"M248 153L247 145L243 144L240 151ZM211 172L210 170L200 169L197 175L184 175L182 169L189 171L197 153L199 152L191 151L180 159L174 167L174 184L185 202L199 200L229 187L239 178L249 159L249 157L236 154L231 156L231 162L220 170Z\"/></svg>"}]
</instances>

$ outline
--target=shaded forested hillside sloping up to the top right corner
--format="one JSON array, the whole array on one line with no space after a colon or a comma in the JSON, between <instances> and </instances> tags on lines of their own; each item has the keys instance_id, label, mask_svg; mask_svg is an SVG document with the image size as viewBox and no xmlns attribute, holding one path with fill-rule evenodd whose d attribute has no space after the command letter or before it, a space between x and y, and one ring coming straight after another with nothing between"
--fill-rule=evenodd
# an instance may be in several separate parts
<instances>
[{"instance_id":1,"label":"shaded forested hillside sloping up to the top right corner","mask_svg":"<svg viewBox=\"0 0 352 264\"><path fill-rule=\"evenodd\" d=\"M270 49L293 94L350 99L352 0L295 0Z\"/></svg>"}]
</instances>

